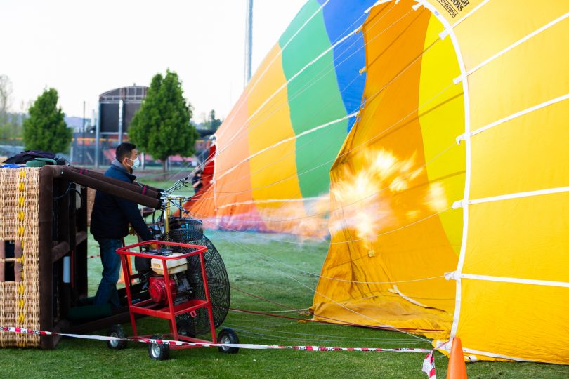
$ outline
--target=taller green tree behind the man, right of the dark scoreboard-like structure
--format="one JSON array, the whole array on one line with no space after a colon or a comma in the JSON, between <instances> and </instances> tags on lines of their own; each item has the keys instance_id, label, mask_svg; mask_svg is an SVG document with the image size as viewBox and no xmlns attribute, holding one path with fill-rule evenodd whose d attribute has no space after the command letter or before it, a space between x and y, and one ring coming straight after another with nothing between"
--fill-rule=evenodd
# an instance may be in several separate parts
<instances>
[{"instance_id":1,"label":"taller green tree behind the man, right of the dark scoreboard-like structure","mask_svg":"<svg viewBox=\"0 0 569 379\"><path fill-rule=\"evenodd\" d=\"M199 134L190 124L192 107L183 98L182 84L176 72L166 70L166 77L152 78L146 98L134 114L129 138L138 149L162 161L172 155L190 157L195 152Z\"/></svg>"}]
</instances>

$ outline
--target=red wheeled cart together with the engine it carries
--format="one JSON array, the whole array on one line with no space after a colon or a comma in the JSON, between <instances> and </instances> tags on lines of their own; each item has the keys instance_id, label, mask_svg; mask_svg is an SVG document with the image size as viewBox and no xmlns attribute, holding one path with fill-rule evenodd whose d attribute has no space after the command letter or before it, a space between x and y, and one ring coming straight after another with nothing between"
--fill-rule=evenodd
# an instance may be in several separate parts
<instances>
[{"instance_id":1,"label":"red wheeled cart together with the engine it carries","mask_svg":"<svg viewBox=\"0 0 569 379\"><path fill-rule=\"evenodd\" d=\"M137 251L133 251L137 249ZM147 249L148 251L143 251ZM117 253L121 257L122 270L124 274L124 282L126 284L126 297L129 306L131 324L134 338L152 338L163 339L158 335L138 335L136 329L136 314L144 314L151 317L159 317L169 321L170 334L164 335L164 339L174 339L178 341L186 341L191 343L239 343L237 334L231 329L224 328L218 335L214 324L214 313L209 297L209 289L207 284L207 272L204 260L204 252L207 251L206 246L181 244L169 241L144 241L139 244L133 244L117 249ZM134 279L139 279L139 274L131 274L130 257L150 258L152 262L152 276L148 279L148 295L150 298L146 300L135 300L133 303L133 286ZM199 266L201 268L201 280L205 289L204 298L192 298L191 286L183 277L176 276L177 273L188 270L188 259L194 257L199 258ZM191 328L186 327L184 320L176 317L186 315L195 317L196 312L201 309L207 310L209 318L209 329L211 331L211 341L195 338L192 335ZM110 328L110 335L113 337L124 338L124 330L120 325L113 325ZM126 347L126 341L113 340L107 344L112 349L123 349ZM152 359L164 360L168 359L169 349L190 349L196 347L193 345L168 345L159 343L150 343L148 346L148 354ZM221 352L235 354L239 350L237 347L219 347Z\"/></svg>"}]
</instances>

